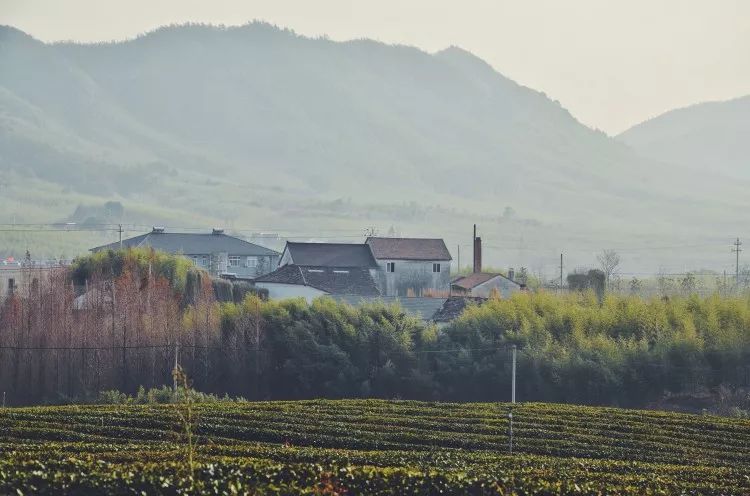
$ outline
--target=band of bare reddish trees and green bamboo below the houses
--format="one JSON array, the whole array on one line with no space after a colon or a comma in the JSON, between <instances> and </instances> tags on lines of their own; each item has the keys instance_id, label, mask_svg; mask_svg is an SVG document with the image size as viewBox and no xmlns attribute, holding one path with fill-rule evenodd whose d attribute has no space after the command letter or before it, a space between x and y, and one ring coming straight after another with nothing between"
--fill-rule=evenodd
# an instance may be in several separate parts
<instances>
[{"instance_id":1,"label":"band of bare reddish trees and green bamboo below the houses","mask_svg":"<svg viewBox=\"0 0 750 496\"><path fill-rule=\"evenodd\" d=\"M134 393L171 384L177 360L222 396L508 400L510 344L522 401L646 406L750 384L747 298L519 294L437 329L397 307L216 294L179 257L83 258L0 307L0 391L9 404Z\"/></svg>"}]
</instances>

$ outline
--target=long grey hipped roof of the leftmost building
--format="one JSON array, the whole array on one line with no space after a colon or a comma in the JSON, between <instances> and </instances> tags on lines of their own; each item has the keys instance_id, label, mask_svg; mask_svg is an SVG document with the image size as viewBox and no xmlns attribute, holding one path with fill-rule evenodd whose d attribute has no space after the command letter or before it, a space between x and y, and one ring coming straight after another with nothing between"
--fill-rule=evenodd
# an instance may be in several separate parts
<instances>
[{"instance_id":1,"label":"long grey hipped roof of the leftmost building","mask_svg":"<svg viewBox=\"0 0 750 496\"><path fill-rule=\"evenodd\" d=\"M116 250L119 242L97 246L91 251ZM185 255L205 255L210 253L227 253L239 256L278 256L279 253L248 241L228 236L223 233L169 233L150 232L122 240L123 248L147 247L168 253Z\"/></svg>"}]
</instances>

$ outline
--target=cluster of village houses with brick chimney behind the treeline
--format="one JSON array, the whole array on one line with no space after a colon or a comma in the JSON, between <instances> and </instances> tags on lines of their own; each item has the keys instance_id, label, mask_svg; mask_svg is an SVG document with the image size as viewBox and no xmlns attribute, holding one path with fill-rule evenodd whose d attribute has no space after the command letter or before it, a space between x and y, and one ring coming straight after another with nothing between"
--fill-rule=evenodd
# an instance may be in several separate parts
<instances>
[{"instance_id":1,"label":"cluster of village houses with brick chimney behind the treeline","mask_svg":"<svg viewBox=\"0 0 750 496\"><path fill-rule=\"evenodd\" d=\"M439 238L368 237L364 243L289 241L281 253L223 230L149 233L92 251L150 247L191 259L214 277L246 281L272 299L329 296L359 305L397 303L425 321L446 322L469 303L525 290L507 275L482 271L482 240L473 237L473 270L453 275L453 257Z\"/></svg>"}]
</instances>

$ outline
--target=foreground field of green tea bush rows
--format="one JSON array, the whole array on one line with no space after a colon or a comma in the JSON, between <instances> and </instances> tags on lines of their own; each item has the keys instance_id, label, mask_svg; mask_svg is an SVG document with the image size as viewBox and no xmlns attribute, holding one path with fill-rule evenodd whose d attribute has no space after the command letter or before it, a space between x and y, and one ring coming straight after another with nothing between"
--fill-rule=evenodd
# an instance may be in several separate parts
<instances>
[{"instance_id":1,"label":"foreground field of green tea bush rows","mask_svg":"<svg viewBox=\"0 0 750 496\"><path fill-rule=\"evenodd\" d=\"M507 404L0 410L0 494L750 494L750 422ZM194 461L191 464L190 455Z\"/></svg>"}]
</instances>

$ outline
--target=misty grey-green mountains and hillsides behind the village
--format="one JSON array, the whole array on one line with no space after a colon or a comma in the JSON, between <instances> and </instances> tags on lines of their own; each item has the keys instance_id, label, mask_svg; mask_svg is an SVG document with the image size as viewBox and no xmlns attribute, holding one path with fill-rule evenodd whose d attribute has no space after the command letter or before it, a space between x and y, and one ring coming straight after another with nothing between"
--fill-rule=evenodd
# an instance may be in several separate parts
<instances>
[{"instance_id":1,"label":"misty grey-green mountains and hillsides behind the village","mask_svg":"<svg viewBox=\"0 0 750 496\"><path fill-rule=\"evenodd\" d=\"M261 23L97 45L0 27L0 67L0 207L29 222L117 199L144 223L455 246L478 221L490 263L542 271L602 248L633 271L719 267L742 234L747 98L614 139L460 48ZM665 250L681 243L696 249Z\"/></svg>"}]
</instances>

